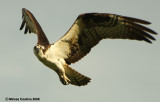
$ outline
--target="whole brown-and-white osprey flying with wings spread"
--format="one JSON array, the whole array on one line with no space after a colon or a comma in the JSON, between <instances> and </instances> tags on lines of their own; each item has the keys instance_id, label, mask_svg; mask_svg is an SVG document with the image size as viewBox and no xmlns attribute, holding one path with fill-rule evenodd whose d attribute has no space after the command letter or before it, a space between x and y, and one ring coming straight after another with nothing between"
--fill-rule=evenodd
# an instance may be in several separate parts
<instances>
[{"instance_id":1,"label":"whole brown-and-white osprey flying with wings spread","mask_svg":"<svg viewBox=\"0 0 160 102\"><path fill-rule=\"evenodd\" d=\"M22 9L22 25L25 31L35 33L38 42L34 54L47 67L54 70L62 84L82 86L90 82L90 78L75 71L69 65L75 63L102 39L130 39L151 43L155 40L150 34L155 31L142 26L150 24L145 20L108 13L85 13L77 17L68 32L54 44L50 44L40 24L33 14ZM141 24L141 25L140 25Z\"/></svg>"}]
</instances>

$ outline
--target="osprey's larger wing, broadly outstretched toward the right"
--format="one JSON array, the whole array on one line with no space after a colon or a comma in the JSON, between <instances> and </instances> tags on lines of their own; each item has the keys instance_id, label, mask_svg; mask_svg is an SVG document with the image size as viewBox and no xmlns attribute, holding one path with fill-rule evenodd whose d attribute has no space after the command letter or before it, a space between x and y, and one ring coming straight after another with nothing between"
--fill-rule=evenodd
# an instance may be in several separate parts
<instances>
[{"instance_id":1,"label":"osprey's larger wing, broadly outstretched toward the right","mask_svg":"<svg viewBox=\"0 0 160 102\"><path fill-rule=\"evenodd\" d=\"M155 38L150 34L156 32L140 24L150 22L106 13L82 14L54 47L64 53L66 62L71 64L89 53L102 39L130 39L151 43L150 40Z\"/></svg>"}]
</instances>

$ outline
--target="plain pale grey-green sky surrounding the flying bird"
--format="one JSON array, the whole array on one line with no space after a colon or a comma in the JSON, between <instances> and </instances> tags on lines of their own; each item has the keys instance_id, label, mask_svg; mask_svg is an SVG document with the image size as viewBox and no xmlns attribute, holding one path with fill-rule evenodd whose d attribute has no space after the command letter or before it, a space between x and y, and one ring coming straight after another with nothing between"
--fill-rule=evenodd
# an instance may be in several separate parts
<instances>
[{"instance_id":1,"label":"plain pale grey-green sky surrounding the flying bird","mask_svg":"<svg viewBox=\"0 0 160 102\"><path fill-rule=\"evenodd\" d=\"M50 43L81 13L101 12L144 19L160 32L159 0L0 0L0 101L39 98L38 102L160 102L160 36L144 41L102 40L71 66L92 80L64 86L33 53L35 34L20 31L22 8L30 10ZM10 101L11 102L11 101ZM19 101L21 102L21 101ZM32 102L32 101L28 101Z\"/></svg>"}]
</instances>

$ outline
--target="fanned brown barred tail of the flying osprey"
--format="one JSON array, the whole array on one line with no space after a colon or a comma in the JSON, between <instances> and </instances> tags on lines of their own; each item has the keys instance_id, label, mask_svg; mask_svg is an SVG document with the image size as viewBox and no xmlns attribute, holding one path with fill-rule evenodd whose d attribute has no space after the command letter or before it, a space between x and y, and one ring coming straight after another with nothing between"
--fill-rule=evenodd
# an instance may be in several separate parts
<instances>
[{"instance_id":1,"label":"fanned brown barred tail of the flying osprey","mask_svg":"<svg viewBox=\"0 0 160 102\"><path fill-rule=\"evenodd\" d=\"M69 83L76 86L84 86L90 82L90 78L82 75L71 67L65 68L65 74L70 80Z\"/></svg>"}]
</instances>

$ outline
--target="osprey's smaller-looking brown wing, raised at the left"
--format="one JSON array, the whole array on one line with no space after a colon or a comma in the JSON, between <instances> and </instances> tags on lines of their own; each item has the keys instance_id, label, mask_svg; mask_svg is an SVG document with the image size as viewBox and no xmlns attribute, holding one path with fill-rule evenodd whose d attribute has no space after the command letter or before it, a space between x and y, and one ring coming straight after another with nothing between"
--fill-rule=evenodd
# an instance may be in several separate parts
<instances>
[{"instance_id":1,"label":"osprey's smaller-looking brown wing, raised at the left","mask_svg":"<svg viewBox=\"0 0 160 102\"><path fill-rule=\"evenodd\" d=\"M41 44L43 46L49 45L49 41L45 36L41 26L29 10L25 8L22 9L22 19L23 21L20 30L22 30L26 25L24 34L26 34L28 31L29 33L35 33L38 36L38 44Z\"/></svg>"}]
</instances>

